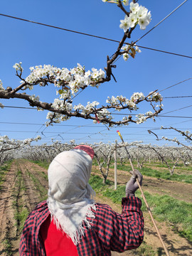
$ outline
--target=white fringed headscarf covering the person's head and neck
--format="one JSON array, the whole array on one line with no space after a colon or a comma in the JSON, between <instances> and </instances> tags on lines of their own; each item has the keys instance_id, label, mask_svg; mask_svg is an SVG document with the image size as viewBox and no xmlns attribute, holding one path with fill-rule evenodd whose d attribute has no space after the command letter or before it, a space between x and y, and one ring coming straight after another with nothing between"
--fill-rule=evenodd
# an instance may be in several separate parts
<instances>
[{"instance_id":1,"label":"white fringed headscarf covering the person's head and neck","mask_svg":"<svg viewBox=\"0 0 192 256\"><path fill-rule=\"evenodd\" d=\"M48 168L48 209L51 220L63 230L74 244L84 235L83 221L95 218L95 191L88 184L92 158L81 149L63 151L53 159Z\"/></svg>"}]
</instances>

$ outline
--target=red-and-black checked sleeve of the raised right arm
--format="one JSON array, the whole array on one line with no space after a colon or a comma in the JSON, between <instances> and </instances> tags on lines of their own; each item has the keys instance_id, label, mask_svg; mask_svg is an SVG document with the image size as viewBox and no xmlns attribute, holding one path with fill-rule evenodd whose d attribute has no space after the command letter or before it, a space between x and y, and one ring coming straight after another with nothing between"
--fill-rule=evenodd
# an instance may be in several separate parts
<instances>
[{"instance_id":1,"label":"red-and-black checked sleeve of the raised right arm","mask_svg":"<svg viewBox=\"0 0 192 256\"><path fill-rule=\"evenodd\" d=\"M122 198L122 214L110 206L97 204L97 234L105 250L124 252L139 247L144 238L142 201L129 196Z\"/></svg>"}]
</instances>

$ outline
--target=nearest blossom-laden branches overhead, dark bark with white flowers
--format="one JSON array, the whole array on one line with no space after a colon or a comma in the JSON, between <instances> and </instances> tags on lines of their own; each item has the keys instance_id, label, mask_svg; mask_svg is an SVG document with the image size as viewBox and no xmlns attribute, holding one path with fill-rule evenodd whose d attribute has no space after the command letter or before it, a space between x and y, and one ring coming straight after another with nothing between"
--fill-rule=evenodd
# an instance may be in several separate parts
<instances>
[{"instance_id":1,"label":"nearest blossom-laden branches overhead, dark bark with white flowers","mask_svg":"<svg viewBox=\"0 0 192 256\"><path fill-rule=\"evenodd\" d=\"M16 63L14 68L20 84L15 87L6 87L0 80L0 98L18 98L26 100L30 106L36 107L38 111L48 110L47 125L60 123L70 119L70 117L92 119L95 123L102 123L109 127L127 125L130 122L141 124L146 119L154 119L163 110L163 99L157 90L149 92L148 95L134 92L130 97L127 95L109 95L105 105L100 105L100 102L96 100L87 102L87 105L82 105L80 102L77 105L73 103L73 99L87 87L99 88L103 83L109 82L111 79L115 80L112 70L116 68L114 63L119 57L122 56L125 61L137 57L137 53L140 53L141 50L135 42L130 40L131 35L134 29L144 31L151 21L151 11L140 5L139 1L102 1L103 4L114 4L114 8L118 7L122 11L119 28L123 32L118 47L114 49L114 54L111 57L107 55L105 68L86 70L83 64L79 63L75 68L58 68L50 64L36 65L30 68L31 73L24 78L22 63ZM33 88L38 86L54 86L55 100L42 102L40 97L32 92ZM132 117L133 110L139 112L141 102L148 102L148 110ZM0 107L3 108L4 105L0 104ZM119 112L129 110L130 114L124 115L121 119L114 119L112 116L114 110Z\"/></svg>"}]
</instances>

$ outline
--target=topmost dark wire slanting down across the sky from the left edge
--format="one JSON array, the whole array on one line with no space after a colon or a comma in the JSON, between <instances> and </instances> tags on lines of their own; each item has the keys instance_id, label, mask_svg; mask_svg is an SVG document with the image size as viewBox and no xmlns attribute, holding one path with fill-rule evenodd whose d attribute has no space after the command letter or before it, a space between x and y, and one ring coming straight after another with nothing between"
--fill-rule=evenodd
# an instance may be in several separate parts
<instances>
[{"instance_id":1,"label":"topmost dark wire slanting down across the sky from the left edge","mask_svg":"<svg viewBox=\"0 0 192 256\"><path fill-rule=\"evenodd\" d=\"M60 30L63 30L63 31L78 33L78 34L81 34L83 36L91 36L91 37L94 37L94 38L99 38L99 39L103 39L103 40L107 40L107 41L112 41L114 43L120 43L120 41L117 41L117 40L114 40L114 39L111 39L111 38L105 38L105 37L102 37L102 36L95 36L95 35L92 35L92 34L89 34L89 33L83 33L83 32L80 32L80 31L73 31L73 30L70 30L70 29L67 29L67 28L60 28L58 26L52 26L52 25L48 25L46 23L41 23L41 22L37 22L37 21L30 21L30 20L27 20L26 18L18 18L18 17L15 17L15 16L7 15L7 14L0 14L0 16L5 16L5 17L8 17L8 18L15 18L15 19L20 20L20 21L31 22L31 23L35 23L35 24L38 24L38 25L42 25L42 26L48 26L50 28L57 28L57 29L60 29ZM131 43L125 43L125 44L132 45ZM155 51L158 51L160 53L167 53L167 54L171 54L171 55L178 55L178 56L185 57L185 58L192 58L192 56L183 55L183 54L179 54L179 53L171 53L171 52L166 51L166 50L159 50L159 49L149 48L149 47L145 47L145 46L138 46L138 47L139 48L144 48L144 49L147 49L147 50L155 50Z\"/></svg>"}]
</instances>

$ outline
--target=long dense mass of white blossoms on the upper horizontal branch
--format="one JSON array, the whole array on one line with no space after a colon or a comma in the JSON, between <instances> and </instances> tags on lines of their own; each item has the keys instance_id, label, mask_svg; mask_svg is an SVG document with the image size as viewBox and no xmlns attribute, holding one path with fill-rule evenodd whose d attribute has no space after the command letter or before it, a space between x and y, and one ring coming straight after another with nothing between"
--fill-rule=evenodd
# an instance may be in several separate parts
<instances>
[{"instance_id":1,"label":"long dense mass of white blossoms on the upper horizontal branch","mask_svg":"<svg viewBox=\"0 0 192 256\"><path fill-rule=\"evenodd\" d=\"M18 63L15 64L18 66ZM105 78L105 72L100 69L92 68L92 71L88 70L85 72L85 68L82 67L79 63L78 66L68 70L68 68L56 68L53 65L37 65L36 67L31 67L31 74L26 78L25 88L30 90L33 89L33 85L39 83L43 86L43 79L48 79L48 82L54 83L55 87L63 86L63 90L59 90L60 98L68 98L69 90L72 95L75 95L76 92L82 87L90 85L92 81L100 81L100 79ZM93 83L91 86L94 85Z\"/></svg>"}]
</instances>

